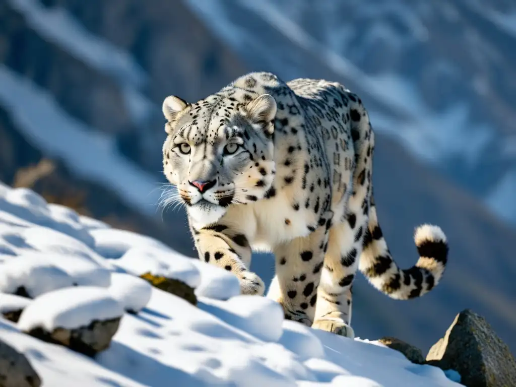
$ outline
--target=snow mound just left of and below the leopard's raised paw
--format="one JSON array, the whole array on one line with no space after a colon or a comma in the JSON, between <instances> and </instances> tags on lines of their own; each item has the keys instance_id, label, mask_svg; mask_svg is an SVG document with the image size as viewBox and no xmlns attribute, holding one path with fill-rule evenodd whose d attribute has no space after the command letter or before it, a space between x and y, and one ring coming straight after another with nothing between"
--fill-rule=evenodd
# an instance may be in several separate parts
<instances>
[{"instance_id":1,"label":"snow mound just left of and below the leopard's raised paw","mask_svg":"<svg viewBox=\"0 0 516 387\"><path fill-rule=\"evenodd\" d=\"M240 295L238 278L227 270L192 259L191 263L201 272L201 282L195 289L197 297L227 300Z\"/></svg>"}]
</instances>

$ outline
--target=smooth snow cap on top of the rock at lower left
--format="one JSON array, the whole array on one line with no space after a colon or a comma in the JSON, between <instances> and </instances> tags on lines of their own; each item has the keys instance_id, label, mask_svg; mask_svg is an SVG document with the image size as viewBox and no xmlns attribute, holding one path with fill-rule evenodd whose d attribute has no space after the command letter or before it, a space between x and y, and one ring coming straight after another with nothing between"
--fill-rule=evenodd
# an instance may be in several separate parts
<instances>
[{"instance_id":1,"label":"smooth snow cap on top of the rock at lower left","mask_svg":"<svg viewBox=\"0 0 516 387\"><path fill-rule=\"evenodd\" d=\"M122 304L102 287L78 286L59 289L36 298L20 316L18 327L23 331L44 328L76 329L92 321L110 320L124 314Z\"/></svg>"}]
</instances>

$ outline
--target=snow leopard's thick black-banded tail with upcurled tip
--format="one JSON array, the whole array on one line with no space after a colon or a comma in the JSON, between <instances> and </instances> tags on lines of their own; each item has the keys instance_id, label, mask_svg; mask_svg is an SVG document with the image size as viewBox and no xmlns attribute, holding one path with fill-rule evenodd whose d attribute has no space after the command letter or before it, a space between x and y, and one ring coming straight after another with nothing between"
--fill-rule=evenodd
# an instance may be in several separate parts
<instances>
[{"instance_id":1,"label":"snow leopard's thick black-banded tail with upcurled tip","mask_svg":"<svg viewBox=\"0 0 516 387\"><path fill-rule=\"evenodd\" d=\"M378 224L373 197L371 178L375 135L358 96L350 94L350 99L351 125L355 131L352 138L357 152L350 206L356 206L354 202L360 200L364 215L368 215L359 270L374 287L391 298L407 300L420 297L436 286L443 275L448 257L446 235L436 225L421 225L414 235L420 259L410 269L400 269L396 265Z\"/></svg>"}]
</instances>

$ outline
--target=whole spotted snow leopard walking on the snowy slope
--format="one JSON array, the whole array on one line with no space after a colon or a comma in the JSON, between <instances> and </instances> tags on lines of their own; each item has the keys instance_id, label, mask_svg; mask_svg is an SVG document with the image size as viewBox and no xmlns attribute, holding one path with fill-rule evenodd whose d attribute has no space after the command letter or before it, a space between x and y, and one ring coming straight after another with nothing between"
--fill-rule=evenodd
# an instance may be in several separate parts
<instances>
[{"instance_id":1,"label":"whole spotted snow leopard walking on the snowy slope","mask_svg":"<svg viewBox=\"0 0 516 387\"><path fill-rule=\"evenodd\" d=\"M199 259L232 272L241 294L264 295L252 251L275 255L267 297L285 319L347 337L357 269L399 300L441 279L440 227L422 224L415 266L397 266L378 223L375 134L357 94L324 79L243 75L189 103L163 102L163 168L186 207Z\"/></svg>"}]
</instances>

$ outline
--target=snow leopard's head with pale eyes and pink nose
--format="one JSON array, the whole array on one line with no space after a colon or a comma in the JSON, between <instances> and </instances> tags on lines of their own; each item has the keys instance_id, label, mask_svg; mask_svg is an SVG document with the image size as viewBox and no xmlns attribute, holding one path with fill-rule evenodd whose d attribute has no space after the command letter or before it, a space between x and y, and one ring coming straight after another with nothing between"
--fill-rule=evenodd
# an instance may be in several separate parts
<instances>
[{"instance_id":1,"label":"snow leopard's head with pale eyes and pink nose","mask_svg":"<svg viewBox=\"0 0 516 387\"><path fill-rule=\"evenodd\" d=\"M195 104L171 95L163 114L164 173L198 227L216 222L232 204L270 195L276 169L271 95L214 94Z\"/></svg>"}]
</instances>

